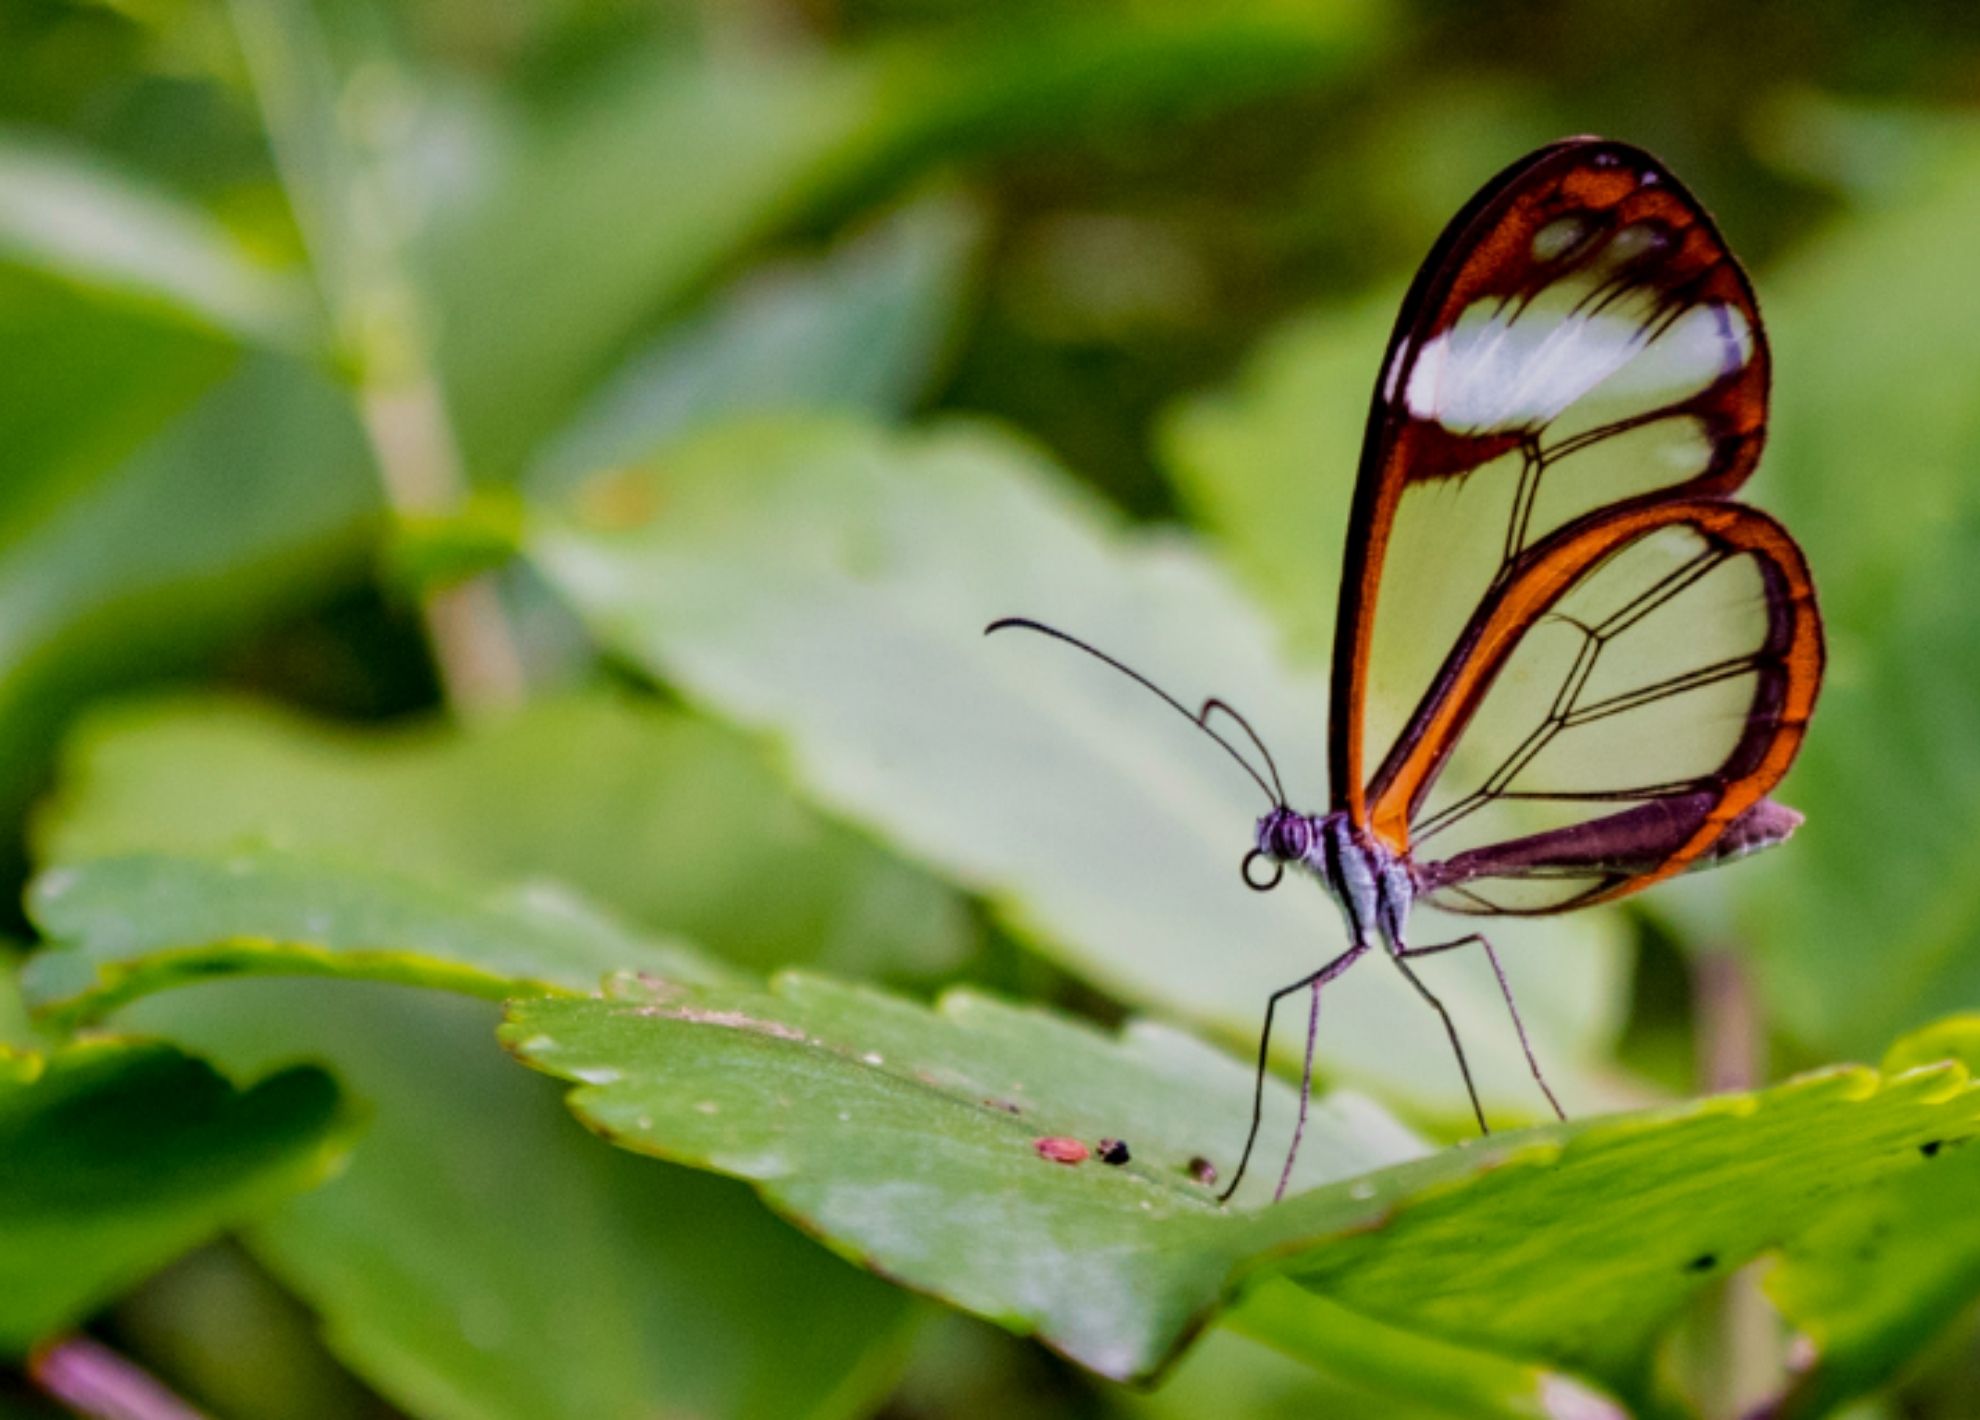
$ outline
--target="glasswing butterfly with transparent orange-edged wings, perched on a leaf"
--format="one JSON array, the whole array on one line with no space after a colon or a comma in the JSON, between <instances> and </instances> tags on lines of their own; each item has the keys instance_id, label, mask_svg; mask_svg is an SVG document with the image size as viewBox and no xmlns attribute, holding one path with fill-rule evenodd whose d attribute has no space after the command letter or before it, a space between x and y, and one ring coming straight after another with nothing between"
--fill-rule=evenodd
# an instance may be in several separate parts
<instances>
[{"instance_id":1,"label":"glasswing butterfly with transparent orange-edged wings, perched on a leaf","mask_svg":"<svg viewBox=\"0 0 1980 1420\"><path fill-rule=\"evenodd\" d=\"M1307 1123L1321 988L1374 947L1412 970L1479 947L1533 1077L1491 941L1414 945L1412 903L1538 915L1612 901L1786 840L1766 794L1822 683L1802 551L1732 501L1766 436L1768 349L1752 285L1711 216L1647 152L1568 139L1485 184L1437 238L1396 319L1362 444L1335 626L1333 804L1305 814L1222 699L1188 715L1271 800L1243 860L1265 891L1319 877L1348 949L1271 994L1230 1198L1257 1143L1271 1018L1309 992ZM1216 729L1228 719L1263 772Z\"/></svg>"}]
</instances>

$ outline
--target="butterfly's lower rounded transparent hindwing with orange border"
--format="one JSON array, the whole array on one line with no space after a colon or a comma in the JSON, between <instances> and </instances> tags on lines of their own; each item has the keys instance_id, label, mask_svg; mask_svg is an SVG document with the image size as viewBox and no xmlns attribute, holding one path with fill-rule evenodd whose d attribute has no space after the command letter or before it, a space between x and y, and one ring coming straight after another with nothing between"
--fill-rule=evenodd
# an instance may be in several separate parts
<instances>
[{"instance_id":1,"label":"butterfly's lower rounded transparent hindwing with orange border","mask_svg":"<svg viewBox=\"0 0 1980 1420\"><path fill-rule=\"evenodd\" d=\"M1372 806L1437 905L1616 897L1792 830L1760 806L1820 675L1808 566L1774 519L1719 499L1592 519L1487 598Z\"/></svg>"}]
</instances>

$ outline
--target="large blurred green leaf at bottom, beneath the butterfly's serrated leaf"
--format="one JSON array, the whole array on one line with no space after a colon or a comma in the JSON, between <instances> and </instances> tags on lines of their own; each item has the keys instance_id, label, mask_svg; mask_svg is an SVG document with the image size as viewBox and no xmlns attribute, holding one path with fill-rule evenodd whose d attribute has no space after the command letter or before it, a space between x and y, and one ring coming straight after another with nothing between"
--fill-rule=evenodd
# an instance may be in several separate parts
<instances>
[{"instance_id":1,"label":"large blurred green leaf at bottom, beneath the butterfly's serrated leaf","mask_svg":"<svg viewBox=\"0 0 1980 1420\"><path fill-rule=\"evenodd\" d=\"M742 1186L600 1149L479 1000L248 980L141 1002L232 1067L307 1054L370 1101L348 1168L253 1254L331 1349L434 1420L871 1414L919 1315Z\"/></svg>"}]
</instances>

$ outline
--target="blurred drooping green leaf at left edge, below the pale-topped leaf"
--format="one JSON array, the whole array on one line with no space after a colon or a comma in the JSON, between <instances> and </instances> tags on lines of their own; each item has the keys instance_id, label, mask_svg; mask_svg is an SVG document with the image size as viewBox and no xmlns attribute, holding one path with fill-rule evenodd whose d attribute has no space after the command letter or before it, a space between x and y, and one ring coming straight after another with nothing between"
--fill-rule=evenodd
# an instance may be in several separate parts
<instances>
[{"instance_id":1,"label":"blurred drooping green leaf at left edge, below the pale-topped leaf","mask_svg":"<svg viewBox=\"0 0 1980 1420\"><path fill-rule=\"evenodd\" d=\"M73 705L178 669L348 576L376 509L356 422L317 374L248 358L107 467L0 519L0 810Z\"/></svg>"}]
</instances>

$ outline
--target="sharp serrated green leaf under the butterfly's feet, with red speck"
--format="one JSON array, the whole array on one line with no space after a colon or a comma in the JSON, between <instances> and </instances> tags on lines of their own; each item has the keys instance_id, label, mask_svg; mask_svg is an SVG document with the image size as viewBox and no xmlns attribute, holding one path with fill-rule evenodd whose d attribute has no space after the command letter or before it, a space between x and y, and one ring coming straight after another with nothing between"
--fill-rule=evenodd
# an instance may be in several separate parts
<instances>
[{"instance_id":1,"label":"sharp serrated green leaf under the butterfly's feet, with red speck","mask_svg":"<svg viewBox=\"0 0 1980 1420\"><path fill-rule=\"evenodd\" d=\"M513 1002L503 1042L576 1081L572 1109L614 1143L750 1178L834 1248L1111 1376L1158 1370L1247 1277L1279 1277L1293 1285L1253 1291L1247 1325L1281 1345L1311 1291L1643 1400L1651 1343L1691 1293L1980 1121L1956 1064L1845 1067L1342 1178L1414 1147L1336 1097L1303 1159L1309 1182L1336 1182L1230 1210L1186 1168L1230 1163L1247 1071L1146 1026L1109 1042L980 998L929 1012L804 976L624 980L606 1000ZM1133 1163L1034 1147L1101 1133Z\"/></svg>"}]
</instances>

